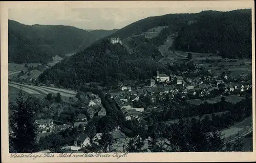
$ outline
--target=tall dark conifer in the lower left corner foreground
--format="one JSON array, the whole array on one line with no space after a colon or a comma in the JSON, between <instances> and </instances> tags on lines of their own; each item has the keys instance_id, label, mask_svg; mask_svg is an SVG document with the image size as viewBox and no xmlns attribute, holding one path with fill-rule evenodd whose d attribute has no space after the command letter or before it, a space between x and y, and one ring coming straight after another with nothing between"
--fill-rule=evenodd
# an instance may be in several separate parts
<instances>
[{"instance_id":1,"label":"tall dark conifer in the lower left corner foreground","mask_svg":"<svg viewBox=\"0 0 256 163\"><path fill-rule=\"evenodd\" d=\"M22 88L16 98L17 106L13 106L11 127L13 136L10 138L11 145L17 153L30 153L37 151L36 127L34 125L34 111L31 97L25 96Z\"/></svg>"}]
</instances>

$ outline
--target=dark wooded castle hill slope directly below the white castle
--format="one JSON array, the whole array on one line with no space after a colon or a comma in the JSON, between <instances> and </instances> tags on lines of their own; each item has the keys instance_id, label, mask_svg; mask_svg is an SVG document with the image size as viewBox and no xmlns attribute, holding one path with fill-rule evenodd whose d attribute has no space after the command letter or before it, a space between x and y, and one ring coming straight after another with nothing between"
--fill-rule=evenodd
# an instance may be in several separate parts
<instances>
[{"instance_id":1,"label":"dark wooded castle hill slope directly below the white castle","mask_svg":"<svg viewBox=\"0 0 256 163\"><path fill-rule=\"evenodd\" d=\"M165 69L154 58L161 55L156 49L144 47L130 54L119 43L104 40L70 58L46 69L39 81L79 89L89 82L111 83L125 80L145 80Z\"/></svg>"}]
</instances>

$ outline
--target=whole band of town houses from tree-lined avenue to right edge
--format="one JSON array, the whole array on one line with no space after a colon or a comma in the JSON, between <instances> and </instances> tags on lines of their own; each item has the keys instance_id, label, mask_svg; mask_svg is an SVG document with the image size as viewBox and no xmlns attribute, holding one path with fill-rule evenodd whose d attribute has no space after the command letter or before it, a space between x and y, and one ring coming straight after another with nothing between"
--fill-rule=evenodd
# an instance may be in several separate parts
<instances>
[{"instance_id":1,"label":"whole band of town houses from tree-lined avenue to right edge","mask_svg":"<svg viewBox=\"0 0 256 163\"><path fill-rule=\"evenodd\" d=\"M155 102L156 95L169 95L172 99L175 95L181 95L181 98L186 98L188 95L195 97L207 97L210 92L214 89L223 89L225 93L236 93L240 95L240 92L249 89L250 85L236 84L236 83L225 83L224 80L228 80L228 76L225 75L223 79L219 76L203 76L196 77L194 79L184 78L182 76L176 75L166 75L160 74L157 71L157 76L150 80L150 86L140 87L138 89L132 90L129 85L121 85L119 92L111 92L111 98L115 100L117 105L121 108L123 113L125 113L126 119L138 117L141 113L136 109L130 109L127 111L125 106L131 106L134 101L138 101L140 97L150 96L152 102ZM170 81L177 81L170 83ZM161 98L161 97L160 97Z\"/></svg>"}]
</instances>

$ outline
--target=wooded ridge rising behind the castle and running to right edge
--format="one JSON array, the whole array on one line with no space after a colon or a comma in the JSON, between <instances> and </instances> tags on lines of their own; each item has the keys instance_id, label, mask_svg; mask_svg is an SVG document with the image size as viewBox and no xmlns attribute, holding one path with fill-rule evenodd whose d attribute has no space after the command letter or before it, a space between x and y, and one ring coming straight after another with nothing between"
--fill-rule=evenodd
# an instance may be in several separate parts
<instances>
[{"instance_id":1,"label":"wooded ridge rising behind the castle and running to right edge","mask_svg":"<svg viewBox=\"0 0 256 163\"><path fill-rule=\"evenodd\" d=\"M130 24L103 38L129 39L134 48L147 41L143 33L157 27L168 26L149 46L161 45L168 35L179 32L172 49L198 53L219 53L227 58L251 57L251 9L229 12L202 11L196 14L167 14L148 17ZM100 42L96 41L95 43ZM218 51L218 52L217 52Z\"/></svg>"}]
</instances>

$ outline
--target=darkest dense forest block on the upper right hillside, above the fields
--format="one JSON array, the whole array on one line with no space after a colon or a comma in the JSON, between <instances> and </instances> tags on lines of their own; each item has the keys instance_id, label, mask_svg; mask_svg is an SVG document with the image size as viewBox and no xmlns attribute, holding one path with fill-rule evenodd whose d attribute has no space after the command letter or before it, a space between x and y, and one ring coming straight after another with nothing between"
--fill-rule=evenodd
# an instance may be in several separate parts
<instances>
[{"instance_id":1,"label":"darkest dense forest block on the upper right hillside, above the fields","mask_svg":"<svg viewBox=\"0 0 256 163\"><path fill-rule=\"evenodd\" d=\"M217 53L223 58L251 58L251 10L199 16L179 31L174 48Z\"/></svg>"}]
</instances>

